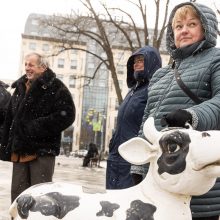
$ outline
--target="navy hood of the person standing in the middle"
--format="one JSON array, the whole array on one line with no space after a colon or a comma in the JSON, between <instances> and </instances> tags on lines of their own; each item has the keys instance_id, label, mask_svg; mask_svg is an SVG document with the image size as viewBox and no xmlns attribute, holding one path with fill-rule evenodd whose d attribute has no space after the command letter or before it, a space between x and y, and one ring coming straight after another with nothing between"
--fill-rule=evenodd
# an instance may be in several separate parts
<instances>
[{"instance_id":1,"label":"navy hood of the person standing in the middle","mask_svg":"<svg viewBox=\"0 0 220 220\"><path fill-rule=\"evenodd\" d=\"M136 84L134 78L134 56L144 56L144 79L145 82L149 82L152 75L157 69L161 67L161 57L158 50L154 47L145 46L136 50L128 59L127 62L127 85L128 88L133 87Z\"/></svg>"}]
</instances>

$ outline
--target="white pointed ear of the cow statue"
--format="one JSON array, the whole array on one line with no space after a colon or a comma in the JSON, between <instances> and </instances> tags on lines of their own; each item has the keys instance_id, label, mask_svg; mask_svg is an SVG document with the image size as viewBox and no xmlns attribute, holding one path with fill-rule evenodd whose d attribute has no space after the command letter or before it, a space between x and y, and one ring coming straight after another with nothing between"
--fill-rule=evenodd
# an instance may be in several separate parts
<instances>
[{"instance_id":1,"label":"white pointed ear of the cow statue","mask_svg":"<svg viewBox=\"0 0 220 220\"><path fill-rule=\"evenodd\" d=\"M157 154L157 149L140 137L132 138L118 148L120 155L131 164L149 163Z\"/></svg>"}]
</instances>

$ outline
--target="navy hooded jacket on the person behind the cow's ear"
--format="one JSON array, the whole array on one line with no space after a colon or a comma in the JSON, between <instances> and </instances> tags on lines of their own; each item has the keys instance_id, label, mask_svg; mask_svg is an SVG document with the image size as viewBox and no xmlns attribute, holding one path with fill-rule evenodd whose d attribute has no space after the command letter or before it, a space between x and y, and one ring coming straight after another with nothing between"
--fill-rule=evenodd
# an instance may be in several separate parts
<instances>
[{"instance_id":1,"label":"navy hooded jacket on the person behind the cow's ear","mask_svg":"<svg viewBox=\"0 0 220 220\"><path fill-rule=\"evenodd\" d=\"M134 57L144 56L144 77L137 82L134 78ZM115 132L109 144L108 160L128 163L118 153L118 147L125 141L137 136L148 99L148 84L154 72L161 67L159 52L150 46L137 50L127 62L127 85L130 89L118 110Z\"/></svg>"}]
</instances>

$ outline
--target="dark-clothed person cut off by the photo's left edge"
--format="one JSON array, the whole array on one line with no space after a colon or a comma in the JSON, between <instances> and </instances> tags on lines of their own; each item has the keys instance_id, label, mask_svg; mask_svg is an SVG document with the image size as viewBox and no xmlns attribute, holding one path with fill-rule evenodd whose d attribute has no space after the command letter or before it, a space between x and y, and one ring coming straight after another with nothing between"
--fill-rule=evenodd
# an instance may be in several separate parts
<instances>
[{"instance_id":1,"label":"dark-clothed person cut off by the photo's left edge","mask_svg":"<svg viewBox=\"0 0 220 220\"><path fill-rule=\"evenodd\" d=\"M11 98L10 92L7 90L8 84L0 81L0 144L2 143L2 131L5 121L5 114Z\"/></svg>"}]
</instances>

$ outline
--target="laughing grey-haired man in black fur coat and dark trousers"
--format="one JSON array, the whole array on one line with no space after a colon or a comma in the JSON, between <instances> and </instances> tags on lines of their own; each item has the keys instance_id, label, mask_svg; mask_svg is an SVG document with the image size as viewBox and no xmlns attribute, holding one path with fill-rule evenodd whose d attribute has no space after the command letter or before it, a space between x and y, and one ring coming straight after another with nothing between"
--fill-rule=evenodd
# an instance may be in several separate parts
<instances>
[{"instance_id":1,"label":"laughing grey-haired man in black fur coat and dark trousers","mask_svg":"<svg viewBox=\"0 0 220 220\"><path fill-rule=\"evenodd\" d=\"M56 78L45 57L25 57L26 74L12 84L2 145L13 162L11 202L28 187L52 181L61 133L75 120L75 105L67 87Z\"/></svg>"}]
</instances>

